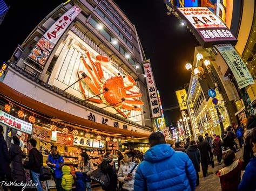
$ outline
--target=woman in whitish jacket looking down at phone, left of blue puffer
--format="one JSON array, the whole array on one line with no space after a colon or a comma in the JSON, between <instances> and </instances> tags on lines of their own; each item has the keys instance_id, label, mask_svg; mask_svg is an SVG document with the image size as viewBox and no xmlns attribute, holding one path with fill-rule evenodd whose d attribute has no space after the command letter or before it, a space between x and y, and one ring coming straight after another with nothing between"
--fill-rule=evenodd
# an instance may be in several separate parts
<instances>
[{"instance_id":1,"label":"woman in whitish jacket looking down at phone, left of blue puffer","mask_svg":"<svg viewBox=\"0 0 256 191\"><path fill-rule=\"evenodd\" d=\"M124 153L123 164L120 165L117 179L123 183L120 190L134 190L134 177L138 163L136 162L135 153L133 151L126 151Z\"/></svg>"}]
</instances>

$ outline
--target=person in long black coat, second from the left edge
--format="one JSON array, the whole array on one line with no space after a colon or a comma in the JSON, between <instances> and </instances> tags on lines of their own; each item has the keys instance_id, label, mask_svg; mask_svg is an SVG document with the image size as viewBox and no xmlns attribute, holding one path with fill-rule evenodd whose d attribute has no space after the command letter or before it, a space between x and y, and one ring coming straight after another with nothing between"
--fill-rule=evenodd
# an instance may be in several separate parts
<instances>
[{"instance_id":1,"label":"person in long black coat, second from the left edge","mask_svg":"<svg viewBox=\"0 0 256 191\"><path fill-rule=\"evenodd\" d=\"M22 164L22 158L26 158L26 155L22 152L21 147L19 147L18 137L13 136L14 144L11 143L9 154L11 158L11 172L12 176L18 182L26 182L26 176L24 167Z\"/></svg>"}]
</instances>

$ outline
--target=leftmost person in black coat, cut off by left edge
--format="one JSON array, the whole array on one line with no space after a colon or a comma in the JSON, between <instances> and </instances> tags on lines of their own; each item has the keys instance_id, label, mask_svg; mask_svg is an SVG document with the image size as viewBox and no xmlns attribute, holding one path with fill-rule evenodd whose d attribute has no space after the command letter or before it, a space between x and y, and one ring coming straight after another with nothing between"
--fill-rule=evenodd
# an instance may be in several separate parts
<instances>
[{"instance_id":1,"label":"leftmost person in black coat, cut off by left edge","mask_svg":"<svg viewBox=\"0 0 256 191\"><path fill-rule=\"evenodd\" d=\"M4 140L4 128L0 125L0 181L11 181L10 155L8 152L6 141ZM4 191L8 190L3 186Z\"/></svg>"}]
</instances>

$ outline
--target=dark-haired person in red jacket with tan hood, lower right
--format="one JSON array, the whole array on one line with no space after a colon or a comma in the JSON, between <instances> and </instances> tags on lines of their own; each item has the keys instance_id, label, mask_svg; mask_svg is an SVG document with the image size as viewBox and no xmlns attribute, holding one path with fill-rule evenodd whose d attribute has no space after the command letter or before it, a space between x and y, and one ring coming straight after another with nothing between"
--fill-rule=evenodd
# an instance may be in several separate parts
<instances>
[{"instance_id":1,"label":"dark-haired person in red jacket with tan hood, lower right","mask_svg":"<svg viewBox=\"0 0 256 191\"><path fill-rule=\"evenodd\" d=\"M216 172L220 178L221 190L238 190L239 183L241 181L241 171L245 169L245 163L237 158L237 154L234 151L228 151L224 155L225 167Z\"/></svg>"}]
</instances>

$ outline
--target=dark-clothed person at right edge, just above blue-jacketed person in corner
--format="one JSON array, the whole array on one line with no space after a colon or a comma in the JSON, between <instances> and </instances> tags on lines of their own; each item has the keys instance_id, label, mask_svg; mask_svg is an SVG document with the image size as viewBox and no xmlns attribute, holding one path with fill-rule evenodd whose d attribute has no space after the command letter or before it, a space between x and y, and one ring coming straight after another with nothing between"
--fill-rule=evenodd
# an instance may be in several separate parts
<instances>
[{"instance_id":1,"label":"dark-clothed person at right edge, just above blue-jacketed person in corner","mask_svg":"<svg viewBox=\"0 0 256 191\"><path fill-rule=\"evenodd\" d=\"M245 161L245 164L247 165L250 162L250 159L254 157L250 140L252 131L256 129L256 115L248 117L246 129L247 131L245 132L245 146L243 159Z\"/></svg>"}]
</instances>

